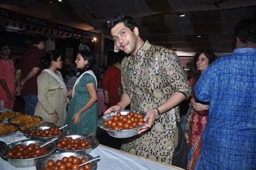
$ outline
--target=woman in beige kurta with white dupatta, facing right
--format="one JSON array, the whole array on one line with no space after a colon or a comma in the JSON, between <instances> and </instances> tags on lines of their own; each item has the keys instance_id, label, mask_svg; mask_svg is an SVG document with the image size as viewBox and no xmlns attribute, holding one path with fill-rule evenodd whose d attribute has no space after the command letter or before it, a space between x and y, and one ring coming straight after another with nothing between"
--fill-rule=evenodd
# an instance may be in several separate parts
<instances>
[{"instance_id":1,"label":"woman in beige kurta with white dupatta, facing right","mask_svg":"<svg viewBox=\"0 0 256 170\"><path fill-rule=\"evenodd\" d=\"M67 87L61 72L57 71L62 67L61 54L57 50L49 50L39 63L44 70L37 78L38 102L35 115L41 116L46 122L61 126L67 115Z\"/></svg>"}]
</instances>

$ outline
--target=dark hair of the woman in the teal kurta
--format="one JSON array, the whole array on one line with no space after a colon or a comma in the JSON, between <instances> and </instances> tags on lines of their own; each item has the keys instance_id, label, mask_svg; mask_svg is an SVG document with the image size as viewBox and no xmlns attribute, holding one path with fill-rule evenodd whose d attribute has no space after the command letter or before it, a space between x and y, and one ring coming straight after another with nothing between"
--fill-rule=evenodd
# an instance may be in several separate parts
<instances>
[{"instance_id":1,"label":"dark hair of the woman in the teal kurta","mask_svg":"<svg viewBox=\"0 0 256 170\"><path fill-rule=\"evenodd\" d=\"M89 50L80 50L78 52L78 54L81 54L82 58L84 58L84 60L88 61L88 64L86 65L86 67L84 67L84 69L80 69L80 74L78 75L78 77L87 70L94 71L94 57L93 57L93 54Z\"/></svg>"}]
</instances>

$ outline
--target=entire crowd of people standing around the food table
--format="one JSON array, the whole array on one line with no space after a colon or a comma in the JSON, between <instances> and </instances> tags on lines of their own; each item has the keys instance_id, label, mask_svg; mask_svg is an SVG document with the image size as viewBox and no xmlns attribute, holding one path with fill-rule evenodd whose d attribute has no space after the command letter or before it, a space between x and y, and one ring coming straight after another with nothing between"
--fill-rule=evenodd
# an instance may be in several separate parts
<instances>
[{"instance_id":1,"label":"entire crowd of people standing around the food table","mask_svg":"<svg viewBox=\"0 0 256 170\"><path fill-rule=\"evenodd\" d=\"M141 38L136 22L119 15L109 30L119 52L103 79L104 114L129 107L146 113L135 137L121 150L184 169L256 169L256 19L235 28L236 48L217 58L205 49L189 64L192 78L177 54ZM8 45L0 49L0 100L13 109L15 94L26 114L38 115L69 133L97 133L98 81L93 54L81 49L76 69L65 82L57 50L44 53L44 37L34 37L15 71ZM179 104L189 100L180 117ZM182 123L182 124L181 124Z\"/></svg>"}]
</instances>

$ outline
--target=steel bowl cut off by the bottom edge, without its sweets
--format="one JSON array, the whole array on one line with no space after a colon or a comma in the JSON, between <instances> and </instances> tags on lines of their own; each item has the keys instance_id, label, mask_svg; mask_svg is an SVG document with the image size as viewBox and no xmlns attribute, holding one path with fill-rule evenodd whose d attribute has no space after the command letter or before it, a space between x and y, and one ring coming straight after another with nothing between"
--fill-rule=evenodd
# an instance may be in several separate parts
<instances>
[{"instance_id":1,"label":"steel bowl cut off by the bottom edge, without its sweets","mask_svg":"<svg viewBox=\"0 0 256 170\"><path fill-rule=\"evenodd\" d=\"M78 157L79 159L81 158L87 158L88 160L93 159L93 156L90 156L89 154L86 154L86 152L84 151L80 151L80 152L65 152L65 151L60 151L60 152L55 152L52 155L49 155L48 157L45 157L43 159L40 159L39 162L36 164L36 169L37 170L44 170L47 165L47 161L48 160L53 160L54 162L58 159L62 159L63 157L70 157L70 156L75 156ZM91 170L95 170L97 169L97 161L93 161L90 163L90 169Z\"/></svg>"}]
</instances>

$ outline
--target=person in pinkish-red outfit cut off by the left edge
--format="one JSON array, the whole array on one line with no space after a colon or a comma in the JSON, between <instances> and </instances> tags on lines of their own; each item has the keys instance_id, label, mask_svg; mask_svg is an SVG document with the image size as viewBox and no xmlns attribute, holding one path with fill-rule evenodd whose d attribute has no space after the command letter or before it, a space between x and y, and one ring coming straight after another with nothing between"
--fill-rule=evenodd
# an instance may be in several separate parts
<instances>
[{"instance_id":1,"label":"person in pinkish-red outfit cut off by the left edge","mask_svg":"<svg viewBox=\"0 0 256 170\"><path fill-rule=\"evenodd\" d=\"M11 50L8 45L0 47L0 100L2 100L5 108L13 109L14 106L14 90L15 77L14 66L10 59Z\"/></svg>"}]
</instances>

